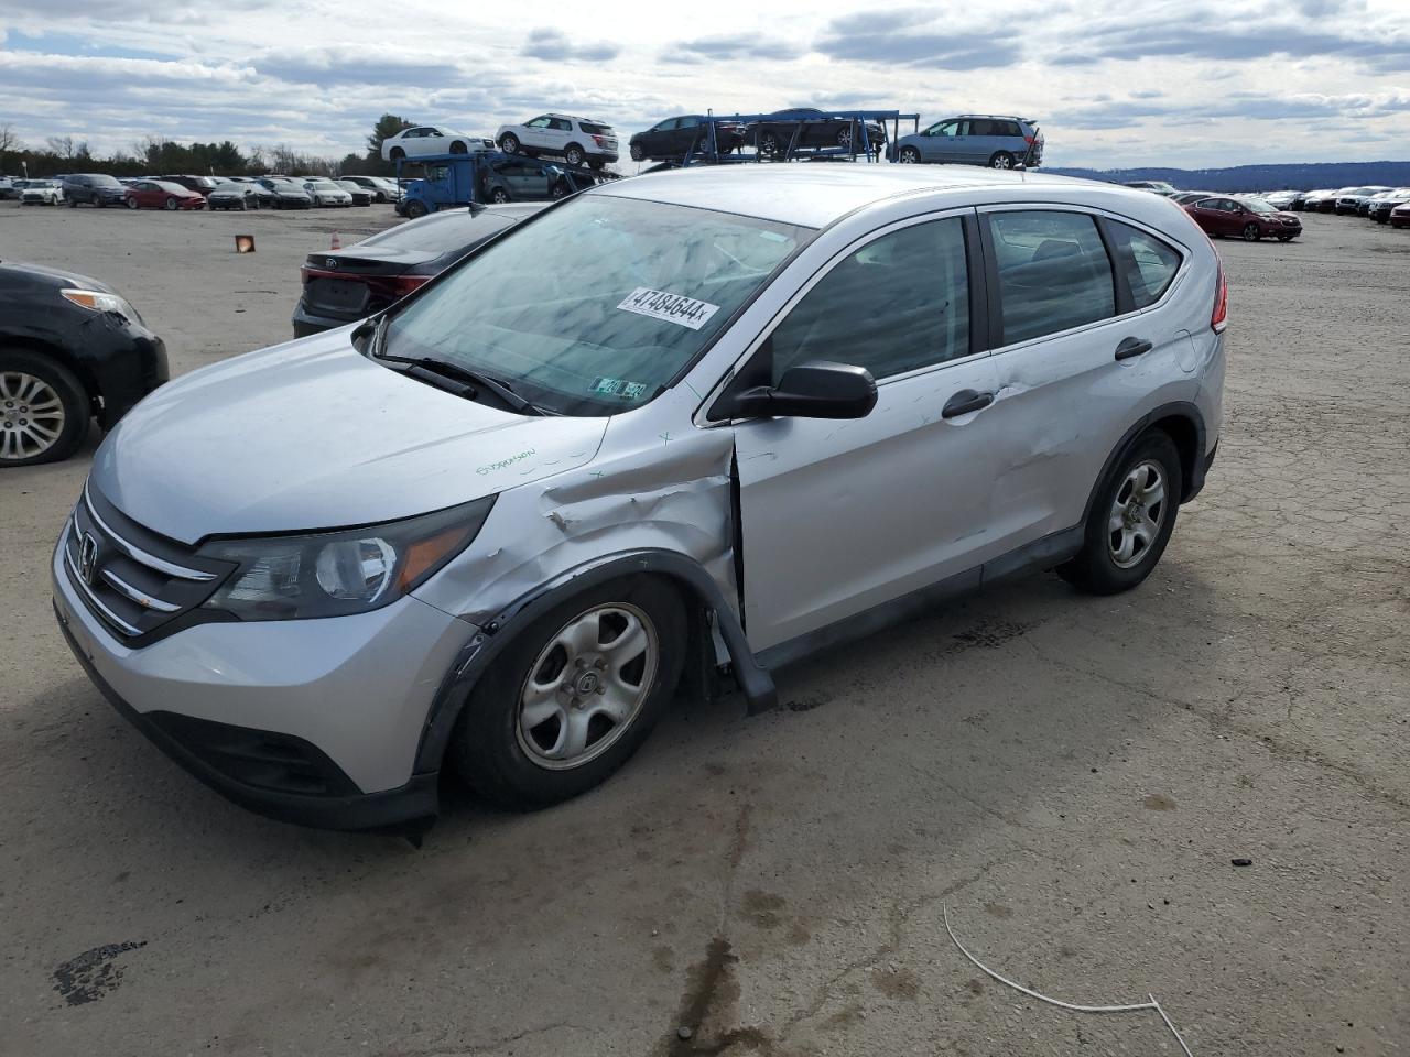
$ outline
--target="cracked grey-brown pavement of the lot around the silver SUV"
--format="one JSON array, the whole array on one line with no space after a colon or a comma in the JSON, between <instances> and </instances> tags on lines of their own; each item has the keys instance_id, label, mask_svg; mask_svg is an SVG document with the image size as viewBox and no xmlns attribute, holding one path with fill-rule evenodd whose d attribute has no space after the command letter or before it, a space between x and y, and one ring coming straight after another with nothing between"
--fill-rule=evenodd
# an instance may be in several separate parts
<instances>
[{"instance_id":1,"label":"cracked grey-brown pavement of the lot around the silver SUV","mask_svg":"<svg viewBox=\"0 0 1410 1057\"><path fill-rule=\"evenodd\" d=\"M389 218L0 209L0 248L113 282L179 372L283 340L302 256ZM1179 1053L986 978L943 905L1200 1057L1410 1051L1410 231L1304 223L1218 244L1220 455L1141 589L1005 585L773 713L680 707L571 803L453 795L419 851L248 815L121 720L48 600L90 452L4 474L0 1051Z\"/></svg>"}]
</instances>

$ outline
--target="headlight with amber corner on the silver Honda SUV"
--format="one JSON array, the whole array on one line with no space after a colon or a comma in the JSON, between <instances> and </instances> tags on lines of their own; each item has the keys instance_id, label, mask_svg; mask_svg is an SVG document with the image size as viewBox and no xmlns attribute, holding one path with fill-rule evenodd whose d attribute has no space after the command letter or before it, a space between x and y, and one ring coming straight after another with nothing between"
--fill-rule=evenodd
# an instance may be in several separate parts
<instances>
[{"instance_id":1,"label":"headlight with amber corner on the silver Honda SUV","mask_svg":"<svg viewBox=\"0 0 1410 1057\"><path fill-rule=\"evenodd\" d=\"M455 557L484 526L494 496L405 521L306 536L214 540L200 554L240 568L206 609L241 620L305 620L379 609Z\"/></svg>"}]
</instances>

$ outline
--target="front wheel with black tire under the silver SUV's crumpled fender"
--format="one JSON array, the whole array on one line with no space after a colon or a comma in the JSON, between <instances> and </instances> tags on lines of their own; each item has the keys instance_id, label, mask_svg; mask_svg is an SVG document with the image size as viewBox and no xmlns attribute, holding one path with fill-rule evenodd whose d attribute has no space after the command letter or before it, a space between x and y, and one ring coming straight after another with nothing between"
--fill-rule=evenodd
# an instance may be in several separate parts
<instances>
[{"instance_id":1,"label":"front wheel with black tire under the silver SUV's crumpled fender","mask_svg":"<svg viewBox=\"0 0 1410 1057\"><path fill-rule=\"evenodd\" d=\"M599 647L605 634L612 637ZM670 705L685 640L680 595L653 576L611 581L554 606L509 643L470 692L451 761L475 792L512 810L587 792L636 753ZM543 719L536 726L525 715L526 698L537 698ZM599 707L582 707L592 703Z\"/></svg>"}]
</instances>

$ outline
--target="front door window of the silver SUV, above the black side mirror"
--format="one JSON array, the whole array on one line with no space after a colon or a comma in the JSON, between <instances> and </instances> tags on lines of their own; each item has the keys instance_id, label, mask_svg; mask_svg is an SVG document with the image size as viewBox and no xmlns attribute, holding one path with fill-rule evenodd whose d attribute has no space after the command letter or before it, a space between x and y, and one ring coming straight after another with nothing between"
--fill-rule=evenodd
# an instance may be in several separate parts
<instances>
[{"instance_id":1,"label":"front door window of the silver SUV, above the black side mirror","mask_svg":"<svg viewBox=\"0 0 1410 1057\"><path fill-rule=\"evenodd\" d=\"M969 272L959 217L914 224L839 261L778 324L774 382L809 359L873 378L969 355Z\"/></svg>"}]
</instances>

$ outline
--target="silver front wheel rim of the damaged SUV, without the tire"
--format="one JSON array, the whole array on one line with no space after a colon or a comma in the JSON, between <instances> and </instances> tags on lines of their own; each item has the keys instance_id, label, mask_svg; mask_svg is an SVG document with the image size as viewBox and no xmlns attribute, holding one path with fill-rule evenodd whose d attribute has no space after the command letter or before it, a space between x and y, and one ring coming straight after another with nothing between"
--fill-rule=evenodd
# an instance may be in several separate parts
<instances>
[{"instance_id":1,"label":"silver front wheel rim of the damaged SUV, without the tire","mask_svg":"<svg viewBox=\"0 0 1410 1057\"><path fill-rule=\"evenodd\" d=\"M539 653L519 692L515 726L532 762L567 771L595 760L642 713L656 681L660 643L636 606L594 606Z\"/></svg>"}]
</instances>

